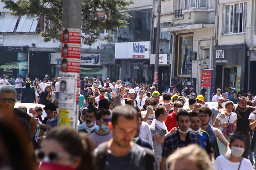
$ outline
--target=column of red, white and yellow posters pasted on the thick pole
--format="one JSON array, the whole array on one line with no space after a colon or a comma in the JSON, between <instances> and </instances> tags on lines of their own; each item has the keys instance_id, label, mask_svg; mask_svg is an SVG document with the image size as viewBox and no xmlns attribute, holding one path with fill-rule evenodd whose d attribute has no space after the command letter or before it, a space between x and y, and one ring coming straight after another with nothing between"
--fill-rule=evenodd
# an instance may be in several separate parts
<instances>
[{"instance_id":1,"label":"column of red, white and yellow posters pasted on the thick pole","mask_svg":"<svg viewBox=\"0 0 256 170\"><path fill-rule=\"evenodd\" d=\"M77 129L81 30L63 28L60 70L58 127ZM58 62L59 64L59 62Z\"/></svg>"}]
</instances>

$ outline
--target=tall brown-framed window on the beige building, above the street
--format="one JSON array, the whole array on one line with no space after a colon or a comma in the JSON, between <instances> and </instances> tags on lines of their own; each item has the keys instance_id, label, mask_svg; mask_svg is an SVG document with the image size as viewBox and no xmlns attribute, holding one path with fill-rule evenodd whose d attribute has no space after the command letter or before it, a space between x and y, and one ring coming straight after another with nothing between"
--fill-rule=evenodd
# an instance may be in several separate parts
<instances>
[{"instance_id":1,"label":"tall brown-framed window on the beige building, above the street","mask_svg":"<svg viewBox=\"0 0 256 170\"><path fill-rule=\"evenodd\" d=\"M193 34L180 35L178 45L178 76L191 77Z\"/></svg>"}]
</instances>

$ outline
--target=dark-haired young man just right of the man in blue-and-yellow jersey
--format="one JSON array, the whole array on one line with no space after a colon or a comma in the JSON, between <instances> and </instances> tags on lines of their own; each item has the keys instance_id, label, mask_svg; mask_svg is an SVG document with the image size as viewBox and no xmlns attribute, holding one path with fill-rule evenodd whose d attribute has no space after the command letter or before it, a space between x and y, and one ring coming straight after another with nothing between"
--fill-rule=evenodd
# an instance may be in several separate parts
<instances>
[{"instance_id":1,"label":"dark-haired young man just right of the man in blue-and-yellow jersey","mask_svg":"<svg viewBox=\"0 0 256 170\"><path fill-rule=\"evenodd\" d=\"M218 143L217 143L217 137L221 141L221 143L223 143L225 146L227 146L226 154L231 153L229 142L224 137L223 133L220 130L218 130L218 128L212 127L212 125L209 124L210 120L212 119L211 109L209 109L207 107L201 107L198 110L198 112L200 113L200 116L201 116L201 129L207 131L207 133L209 134L209 138L211 141L210 143L214 150L215 158L217 158L220 155L220 151L219 151Z\"/></svg>"}]
</instances>

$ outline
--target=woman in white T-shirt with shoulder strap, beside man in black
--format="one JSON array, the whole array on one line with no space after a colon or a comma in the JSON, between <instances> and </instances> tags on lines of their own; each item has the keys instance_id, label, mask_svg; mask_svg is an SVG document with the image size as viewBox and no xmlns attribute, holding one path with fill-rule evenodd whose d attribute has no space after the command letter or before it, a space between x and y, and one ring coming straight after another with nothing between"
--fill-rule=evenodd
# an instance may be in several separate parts
<instances>
[{"instance_id":1,"label":"woman in white T-shirt with shoulder strap, beside man in black","mask_svg":"<svg viewBox=\"0 0 256 170\"><path fill-rule=\"evenodd\" d=\"M219 128L219 130L223 133L223 135L226 137L227 141L230 142L231 137L234 133L234 130L236 130L237 126L237 115L236 113L232 112L234 108L234 103L231 101L228 101L225 103L225 118L221 119L221 113L218 113L215 122L213 123L213 127ZM227 147L218 141L218 147L220 150L221 155L226 155Z\"/></svg>"}]
</instances>

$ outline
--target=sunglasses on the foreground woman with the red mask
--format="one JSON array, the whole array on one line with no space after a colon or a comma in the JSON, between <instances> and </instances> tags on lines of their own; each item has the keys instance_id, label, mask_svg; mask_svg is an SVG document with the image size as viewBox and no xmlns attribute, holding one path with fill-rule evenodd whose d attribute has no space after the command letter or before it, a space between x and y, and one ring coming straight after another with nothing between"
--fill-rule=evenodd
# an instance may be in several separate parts
<instances>
[{"instance_id":1,"label":"sunglasses on the foreground woman with the red mask","mask_svg":"<svg viewBox=\"0 0 256 170\"><path fill-rule=\"evenodd\" d=\"M38 161L40 163L45 157L47 157L50 162L56 162L60 158L74 159L74 156L70 156L70 155L67 155L67 154L64 154L64 153L50 152L47 155L46 153L44 153L44 151L42 151L40 149L35 150L36 161Z\"/></svg>"}]
</instances>

